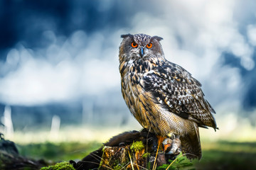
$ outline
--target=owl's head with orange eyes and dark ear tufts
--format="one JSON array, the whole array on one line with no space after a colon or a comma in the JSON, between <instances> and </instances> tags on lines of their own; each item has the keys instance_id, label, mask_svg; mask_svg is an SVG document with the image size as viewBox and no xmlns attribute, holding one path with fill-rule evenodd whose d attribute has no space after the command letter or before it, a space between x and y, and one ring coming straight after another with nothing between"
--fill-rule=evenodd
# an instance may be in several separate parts
<instances>
[{"instance_id":1,"label":"owl's head with orange eyes and dark ear tufts","mask_svg":"<svg viewBox=\"0 0 256 170\"><path fill-rule=\"evenodd\" d=\"M125 34L119 47L119 62L124 61L146 61L156 60L156 58L164 58L160 40L163 38L158 36L149 36L146 34Z\"/></svg>"}]
</instances>

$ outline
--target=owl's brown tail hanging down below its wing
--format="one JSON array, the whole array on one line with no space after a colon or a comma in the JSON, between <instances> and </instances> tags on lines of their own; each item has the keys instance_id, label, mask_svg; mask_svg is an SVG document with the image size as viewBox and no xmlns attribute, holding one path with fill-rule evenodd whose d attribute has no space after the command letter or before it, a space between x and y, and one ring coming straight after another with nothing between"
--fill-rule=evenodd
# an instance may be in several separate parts
<instances>
[{"instance_id":1,"label":"owl's brown tail hanging down below its wing","mask_svg":"<svg viewBox=\"0 0 256 170\"><path fill-rule=\"evenodd\" d=\"M198 125L193 123L195 130L193 132L188 133L185 136L181 136L181 147L183 154L186 154L188 159L201 159L202 150L201 150L201 142L199 137Z\"/></svg>"}]
</instances>

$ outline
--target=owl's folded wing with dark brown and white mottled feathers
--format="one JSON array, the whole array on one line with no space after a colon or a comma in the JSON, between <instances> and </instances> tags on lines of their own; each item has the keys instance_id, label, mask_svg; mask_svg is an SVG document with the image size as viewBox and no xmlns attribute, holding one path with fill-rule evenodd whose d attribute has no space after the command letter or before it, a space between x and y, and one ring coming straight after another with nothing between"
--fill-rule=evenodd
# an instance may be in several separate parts
<instances>
[{"instance_id":1,"label":"owl's folded wing with dark brown and white mottled feathers","mask_svg":"<svg viewBox=\"0 0 256 170\"><path fill-rule=\"evenodd\" d=\"M215 111L204 98L200 82L186 69L168 62L144 74L140 83L154 103L160 103L171 113L192 120L203 128L217 128L212 115Z\"/></svg>"}]
</instances>

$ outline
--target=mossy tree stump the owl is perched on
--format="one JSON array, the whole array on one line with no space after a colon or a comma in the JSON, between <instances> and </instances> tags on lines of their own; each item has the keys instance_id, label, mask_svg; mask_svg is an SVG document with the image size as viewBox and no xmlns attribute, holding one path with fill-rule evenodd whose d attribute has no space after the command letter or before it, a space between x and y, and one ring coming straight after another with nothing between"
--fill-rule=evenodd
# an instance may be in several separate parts
<instances>
[{"instance_id":1,"label":"mossy tree stump the owl is perched on","mask_svg":"<svg viewBox=\"0 0 256 170\"><path fill-rule=\"evenodd\" d=\"M166 154L156 135L146 130L124 132L112 137L103 147L76 163L77 170L153 169L166 164ZM174 155L175 158L176 155Z\"/></svg>"}]
</instances>

